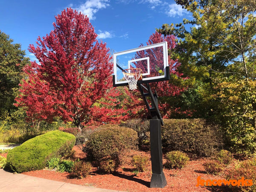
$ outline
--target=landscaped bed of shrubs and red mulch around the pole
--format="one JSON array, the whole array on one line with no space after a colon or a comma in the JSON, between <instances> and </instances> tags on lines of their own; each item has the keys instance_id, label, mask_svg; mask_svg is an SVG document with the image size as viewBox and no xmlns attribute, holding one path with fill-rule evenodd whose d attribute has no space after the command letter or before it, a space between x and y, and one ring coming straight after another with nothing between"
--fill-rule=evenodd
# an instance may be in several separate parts
<instances>
[{"instance_id":1,"label":"landscaped bed of shrubs and red mulch around the pole","mask_svg":"<svg viewBox=\"0 0 256 192\"><path fill-rule=\"evenodd\" d=\"M164 122L163 189L149 187L149 123L141 119L76 133L70 128L49 131L7 151L7 160L2 153L0 165L25 175L120 191L255 190L251 184L256 182L256 159L234 157L221 149L218 125L204 119Z\"/></svg>"}]
</instances>

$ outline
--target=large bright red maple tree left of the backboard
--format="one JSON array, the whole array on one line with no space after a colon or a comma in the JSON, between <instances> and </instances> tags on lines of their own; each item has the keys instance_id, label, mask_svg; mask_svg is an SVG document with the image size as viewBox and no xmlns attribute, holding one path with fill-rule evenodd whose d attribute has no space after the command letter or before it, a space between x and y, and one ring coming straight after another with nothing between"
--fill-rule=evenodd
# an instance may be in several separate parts
<instances>
[{"instance_id":1,"label":"large bright red maple tree left of the backboard","mask_svg":"<svg viewBox=\"0 0 256 192\"><path fill-rule=\"evenodd\" d=\"M52 122L59 116L81 130L112 86L111 55L81 12L67 8L55 18L54 30L38 37L37 47L29 46L40 64L24 67L28 78L20 85L17 105L26 107L32 120Z\"/></svg>"}]
</instances>

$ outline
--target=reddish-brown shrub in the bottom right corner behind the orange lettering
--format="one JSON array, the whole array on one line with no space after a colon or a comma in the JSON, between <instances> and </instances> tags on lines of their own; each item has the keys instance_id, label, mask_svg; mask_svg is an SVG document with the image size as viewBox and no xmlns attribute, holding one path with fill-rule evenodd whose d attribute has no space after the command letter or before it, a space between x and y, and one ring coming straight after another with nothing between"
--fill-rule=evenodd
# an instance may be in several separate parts
<instances>
[{"instance_id":1,"label":"reddish-brown shrub in the bottom right corner behind the orange lettering","mask_svg":"<svg viewBox=\"0 0 256 192\"><path fill-rule=\"evenodd\" d=\"M230 168L226 173L227 180L241 180L241 186L230 186L234 191L255 192L256 191L256 158L244 160Z\"/></svg>"}]
</instances>

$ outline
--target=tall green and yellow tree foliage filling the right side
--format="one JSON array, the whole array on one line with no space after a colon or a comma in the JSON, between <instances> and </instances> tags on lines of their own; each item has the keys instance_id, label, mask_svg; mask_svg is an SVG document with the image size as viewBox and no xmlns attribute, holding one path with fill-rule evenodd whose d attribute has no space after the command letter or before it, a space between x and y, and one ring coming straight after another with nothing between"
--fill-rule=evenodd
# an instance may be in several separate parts
<instances>
[{"instance_id":1,"label":"tall green and yellow tree foliage filling the right side","mask_svg":"<svg viewBox=\"0 0 256 192\"><path fill-rule=\"evenodd\" d=\"M228 147L245 155L255 153L256 1L176 2L193 14L193 20L164 24L158 31L180 38L180 70L198 91L194 96L202 98L204 114L212 111L223 123ZM192 25L190 30L187 24ZM190 104L185 106L195 106Z\"/></svg>"}]
</instances>

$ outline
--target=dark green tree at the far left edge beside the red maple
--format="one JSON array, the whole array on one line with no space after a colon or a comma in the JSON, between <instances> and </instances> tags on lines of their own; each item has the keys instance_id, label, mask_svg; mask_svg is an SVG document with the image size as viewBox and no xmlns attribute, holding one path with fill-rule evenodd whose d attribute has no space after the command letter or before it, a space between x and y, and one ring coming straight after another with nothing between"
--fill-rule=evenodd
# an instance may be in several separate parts
<instances>
[{"instance_id":1,"label":"dark green tree at the far left edge beside the red maple","mask_svg":"<svg viewBox=\"0 0 256 192\"><path fill-rule=\"evenodd\" d=\"M26 53L20 49L20 44L0 31L0 119L14 118L12 113L17 111L15 97L19 83L23 78L23 67L29 64Z\"/></svg>"}]
</instances>

